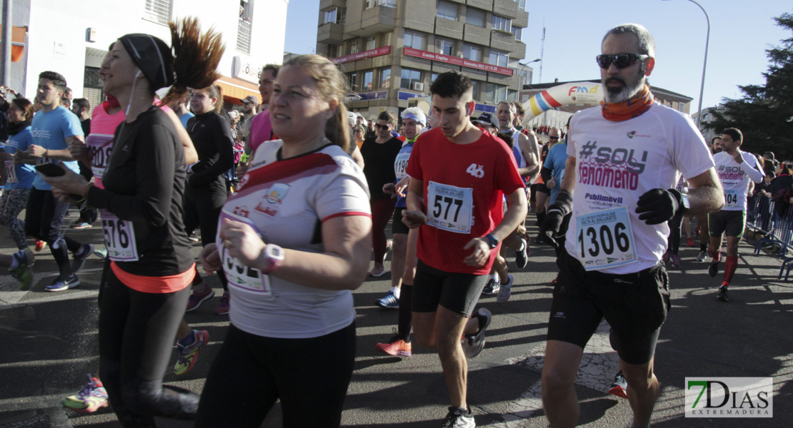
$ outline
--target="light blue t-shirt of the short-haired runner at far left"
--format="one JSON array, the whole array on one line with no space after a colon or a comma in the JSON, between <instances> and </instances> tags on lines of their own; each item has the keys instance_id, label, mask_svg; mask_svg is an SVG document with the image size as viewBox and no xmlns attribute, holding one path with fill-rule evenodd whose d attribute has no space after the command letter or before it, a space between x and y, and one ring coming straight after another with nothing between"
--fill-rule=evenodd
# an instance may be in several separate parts
<instances>
[{"instance_id":1,"label":"light blue t-shirt of the short-haired runner at far left","mask_svg":"<svg viewBox=\"0 0 793 428\"><path fill-rule=\"evenodd\" d=\"M38 112L33 116L33 123L31 123L30 130L33 134L33 144L44 147L47 150L63 150L67 149L66 138L72 135L82 136L82 125L80 119L75 113L70 112L67 108L59 105L52 112ZM52 162L57 164L59 161L42 157L39 159L39 164ZM77 161L63 162L68 169L76 173L80 173L80 168ZM36 173L36 178L33 179L33 187L39 190L50 190L52 186L44 183L44 180L39 174Z\"/></svg>"}]
</instances>

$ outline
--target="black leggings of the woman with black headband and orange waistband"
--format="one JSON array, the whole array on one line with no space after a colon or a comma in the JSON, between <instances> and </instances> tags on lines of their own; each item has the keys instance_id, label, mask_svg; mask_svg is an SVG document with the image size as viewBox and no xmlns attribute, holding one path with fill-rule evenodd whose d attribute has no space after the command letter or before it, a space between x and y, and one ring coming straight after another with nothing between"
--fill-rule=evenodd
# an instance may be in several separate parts
<instances>
[{"instance_id":1,"label":"black leggings of the woman with black headband and orange waistband","mask_svg":"<svg viewBox=\"0 0 793 428\"><path fill-rule=\"evenodd\" d=\"M199 396L163 385L190 287L141 293L106 272L99 303L99 373L121 426L155 426L154 416L195 419Z\"/></svg>"}]
</instances>

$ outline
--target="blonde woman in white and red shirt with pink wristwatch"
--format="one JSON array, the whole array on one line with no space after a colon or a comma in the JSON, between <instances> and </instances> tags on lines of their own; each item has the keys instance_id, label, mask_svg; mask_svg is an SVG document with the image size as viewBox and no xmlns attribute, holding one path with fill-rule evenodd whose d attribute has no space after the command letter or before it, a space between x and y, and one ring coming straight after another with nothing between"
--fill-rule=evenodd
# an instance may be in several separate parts
<instances>
[{"instance_id":1,"label":"blonde woman in white and red shirt with pink wristwatch","mask_svg":"<svg viewBox=\"0 0 793 428\"><path fill-rule=\"evenodd\" d=\"M339 426L355 358L351 290L372 229L366 178L346 153L344 93L343 74L318 55L278 72L269 112L282 139L256 149L200 256L226 272L234 303L197 427L258 427L276 400L284 426Z\"/></svg>"}]
</instances>

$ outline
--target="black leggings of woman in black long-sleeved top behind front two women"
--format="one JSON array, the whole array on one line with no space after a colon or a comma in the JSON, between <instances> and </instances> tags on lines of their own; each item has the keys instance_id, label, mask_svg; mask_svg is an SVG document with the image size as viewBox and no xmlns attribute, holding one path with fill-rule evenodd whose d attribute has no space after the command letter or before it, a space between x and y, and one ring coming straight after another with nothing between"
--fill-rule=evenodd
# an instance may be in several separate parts
<instances>
[{"instance_id":1,"label":"black leggings of woman in black long-sleeved top behind front two women","mask_svg":"<svg viewBox=\"0 0 793 428\"><path fill-rule=\"evenodd\" d=\"M197 227L201 227L201 245L206 246L215 242L217 234L217 218L220 217L220 210L226 203L228 196L224 189L213 189L213 186L190 187L185 189L185 230L193 233ZM223 284L223 290L228 290L226 275L223 270L217 271L217 278ZM201 276L196 275L193 284L201 282Z\"/></svg>"}]
</instances>

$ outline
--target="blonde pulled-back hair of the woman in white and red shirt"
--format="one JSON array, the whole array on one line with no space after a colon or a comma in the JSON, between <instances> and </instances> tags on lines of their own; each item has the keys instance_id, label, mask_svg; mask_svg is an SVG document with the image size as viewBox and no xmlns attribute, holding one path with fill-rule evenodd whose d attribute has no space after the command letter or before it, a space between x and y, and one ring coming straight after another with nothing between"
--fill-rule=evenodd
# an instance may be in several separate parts
<instances>
[{"instance_id":1,"label":"blonde pulled-back hair of the woman in white and red shirt","mask_svg":"<svg viewBox=\"0 0 793 428\"><path fill-rule=\"evenodd\" d=\"M347 93L347 79L329 59L320 55L297 55L289 59L285 66L297 66L316 82L317 92L325 101L335 100L338 104L331 119L325 123L325 137L347 153L350 148L350 121L347 119L347 107L344 106L344 94ZM283 68L283 67L282 67Z\"/></svg>"}]
</instances>

